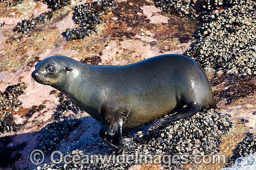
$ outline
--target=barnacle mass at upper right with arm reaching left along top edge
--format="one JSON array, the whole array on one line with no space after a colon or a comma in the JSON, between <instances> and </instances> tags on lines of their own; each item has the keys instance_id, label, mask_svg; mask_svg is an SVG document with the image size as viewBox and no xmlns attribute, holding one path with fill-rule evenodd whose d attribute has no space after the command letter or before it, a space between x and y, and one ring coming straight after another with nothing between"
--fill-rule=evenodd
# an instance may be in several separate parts
<instances>
[{"instance_id":1,"label":"barnacle mass at upper right with arm reaching left along top edge","mask_svg":"<svg viewBox=\"0 0 256 170\"><path fill-rule=\"evenodd\" d=\"M201 21L197 39L184 55L204 69L237 76L256 75L256 2L254 0L154 0L155 6Z\"/></svg>"}]
</instances>

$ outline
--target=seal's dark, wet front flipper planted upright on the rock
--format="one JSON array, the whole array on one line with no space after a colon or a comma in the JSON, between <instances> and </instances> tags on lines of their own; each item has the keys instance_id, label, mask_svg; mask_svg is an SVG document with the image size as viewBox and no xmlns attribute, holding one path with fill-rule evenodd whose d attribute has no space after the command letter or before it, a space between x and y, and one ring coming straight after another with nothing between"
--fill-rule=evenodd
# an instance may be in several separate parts
<instances>
[{"instance_id":1,"label":"seal's dark, wet front flipper planted upright on the rock","mask_svg":"<svg viewBox=\"0 0 256 170\"><path fill-rule=\"evenodd\" d=\"M124 150L122 143L122 126L127 112L110 107L104 107L101 110L101 129L100 139L108 145Z\"/></svg>"}]
</instances>

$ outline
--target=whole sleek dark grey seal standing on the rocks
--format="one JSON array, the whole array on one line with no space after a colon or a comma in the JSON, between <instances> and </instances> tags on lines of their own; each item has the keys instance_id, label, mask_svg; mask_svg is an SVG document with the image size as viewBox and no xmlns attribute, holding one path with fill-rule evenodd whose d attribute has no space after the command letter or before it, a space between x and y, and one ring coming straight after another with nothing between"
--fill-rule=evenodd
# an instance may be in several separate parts
<instances>
[{"instance_id":1,"label":"whole sleek dark grey seal standing on the rocks","mask_svg":"<svg viewBox=\"0 0 256 170\"><path fill-rule=\"evenodd\" d=\"M158 127L216 107L204 71L182 55L162 55L125 66L89 65L52 56L35 65L32 77L60 90L100 121L100 139L119 149L124 149L122 128L154 120L153 126ZM162 118L175 107L184 109Z\"/></svg>"}]
</instances>

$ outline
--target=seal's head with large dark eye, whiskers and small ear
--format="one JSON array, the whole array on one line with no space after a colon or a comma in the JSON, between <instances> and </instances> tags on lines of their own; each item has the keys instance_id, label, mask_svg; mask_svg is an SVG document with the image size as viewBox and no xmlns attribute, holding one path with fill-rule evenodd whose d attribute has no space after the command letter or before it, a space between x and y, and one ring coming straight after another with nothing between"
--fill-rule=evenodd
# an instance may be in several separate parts
<instances>
[{"instance_id":1,"label":"seal's head with large dark eye, whiskers and small ear","mask_svg":"<svg viewBox=\"0 0 256 170\"><path fill-rule=\"evenodd\" d=\"M60 83L62 86L65 85L68 73L73 70L72 63L74 63L74 60L68 57L48 57L35 65L32 77L40 84L58 88Z\"/></svg>"}]
</instances>

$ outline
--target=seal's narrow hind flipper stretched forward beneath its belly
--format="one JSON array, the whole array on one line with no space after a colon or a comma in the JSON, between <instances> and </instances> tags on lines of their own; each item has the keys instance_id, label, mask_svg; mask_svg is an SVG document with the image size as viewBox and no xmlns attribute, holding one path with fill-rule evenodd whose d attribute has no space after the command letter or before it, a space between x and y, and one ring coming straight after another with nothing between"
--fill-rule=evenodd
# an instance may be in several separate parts
<instances>
[{"instance_id":1,"label":"seal's narrow hind flipper stretched forward beneath its belly","mask_svg":"<svg viewBox=\"0 0 256 170\"><path fill-rule=\"evenodd\" d=\"M156 121L151 128L155 129L163 124L166 124L168 122L172 122L175 120L179 120L188 116L191 116L201 110L201 105L198 103L190 103L187 107L185 107L185 110L183 110L181 113L176 113L174 115L168 116L166 118L161 118L158 121Z\"/></svg>"}]
</instances>

